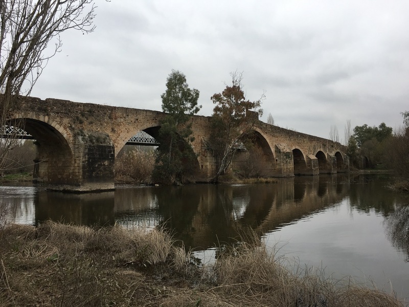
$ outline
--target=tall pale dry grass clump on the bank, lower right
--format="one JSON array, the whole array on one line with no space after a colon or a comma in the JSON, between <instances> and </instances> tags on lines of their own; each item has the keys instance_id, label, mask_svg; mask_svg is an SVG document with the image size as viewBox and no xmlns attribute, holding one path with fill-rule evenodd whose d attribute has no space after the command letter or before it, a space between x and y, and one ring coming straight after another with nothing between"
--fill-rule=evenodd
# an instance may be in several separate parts
<instances>
[{"instance_id":1,"label":"tall pale dry grass clump on the bank, lower right","mask_svg":"<svg viewBox=\"0 0 409 307\"><path fill-rule=\"evenodd\" d=\"M294 274L265 246L241 243L222 253L213 268L217 286L207 290L243 306L402 306L391 295L320 270Z\"/></svg>"}]
</instances>

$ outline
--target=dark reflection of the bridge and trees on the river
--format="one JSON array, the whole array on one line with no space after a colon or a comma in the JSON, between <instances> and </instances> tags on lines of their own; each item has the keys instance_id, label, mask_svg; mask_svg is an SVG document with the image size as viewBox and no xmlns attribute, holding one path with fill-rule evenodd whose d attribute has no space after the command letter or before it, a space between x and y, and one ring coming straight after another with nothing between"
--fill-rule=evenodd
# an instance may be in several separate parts
<instances>
[{"instance_id":1,"label":"dark reflection of the bridge and trees on the river","mask_svg":"<svg viewBox=\"0 0 409 307\"><path fill-rule=\"evenodd\" d=\"M351 206L363 210L375 207L385 215L394 210L385 205L394 204L393 200L381 201L385 195L379 189L368 185L369 192L358 191L356 185L350 189L350 183L359 180L352 174L337 174L286 178L268 185L122 187L86 194L25 188L30 190L25 190L24 198L9 199L11 207L20 208L13 210L17 220L34 213L22 223L37 225L51 219L80 225L164 226L187 248L206 249L230 243L248 228L260 233L277 230L347 196Z\"/></svg>"}]
</instances>

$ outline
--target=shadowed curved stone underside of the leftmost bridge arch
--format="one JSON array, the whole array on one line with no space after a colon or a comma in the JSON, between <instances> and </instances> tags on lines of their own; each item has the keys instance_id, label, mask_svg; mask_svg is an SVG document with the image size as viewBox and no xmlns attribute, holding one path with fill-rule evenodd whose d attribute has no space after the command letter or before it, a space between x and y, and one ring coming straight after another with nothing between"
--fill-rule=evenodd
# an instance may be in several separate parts
<instances>
[{"instance_id":1,"label":"shadowed curved stone underside of the leftmost bridge arch","mask_svg":"<svg viewBox=\"0 0 409 307\"><path fill-rule=\"evenodd\" d=\"M11 119L8 124L25 130L35 139L33 183L51 185L78 185L74 168L72 142L67 141L67 133L56 123L38 119Z\"/></svg>"}]
</instances>

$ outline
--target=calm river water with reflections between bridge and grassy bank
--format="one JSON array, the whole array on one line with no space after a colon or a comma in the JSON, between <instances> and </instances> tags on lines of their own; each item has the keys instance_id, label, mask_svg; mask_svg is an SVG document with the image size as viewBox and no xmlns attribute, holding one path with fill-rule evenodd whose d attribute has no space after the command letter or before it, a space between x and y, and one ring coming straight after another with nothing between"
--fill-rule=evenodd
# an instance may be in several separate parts
<instances>
[{"instance_id":1,"label":"calm river water with reflections between bridge and grassy bank","mask_svg":"<svg viewBox=\"0 0 409 307\"><path fill-rule=\"evenodd\" d=\"M248 229L288 263L335 278L373 280L409 300L409 195L388 190L388 174L306 176L257 185L118 187L65 194L0 186L9 221L164 227L202 262Z\"/></svg>"}]
</instances>

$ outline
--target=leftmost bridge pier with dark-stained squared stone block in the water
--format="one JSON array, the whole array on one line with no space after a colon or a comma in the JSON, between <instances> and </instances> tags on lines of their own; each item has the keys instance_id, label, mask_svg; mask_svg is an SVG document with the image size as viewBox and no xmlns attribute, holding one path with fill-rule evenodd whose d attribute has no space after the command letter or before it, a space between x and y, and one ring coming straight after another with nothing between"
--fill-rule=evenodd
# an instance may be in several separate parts
<instances>
[{"instance_id":1,"label":"leftmost bridge pier with dark-stained squared stone block in the water","mask_svg":"<svg viewBox=\"0 0 409 307\"><path fill-rule=\"evenodd\" d=\"M75 137L73 152L67 148L56 150L47 142L37 141L35 144L33 183L42 184L48 190L68 192L115 189L115 147L108 135L82 131Z\"/></svg>"}]
</instances>

